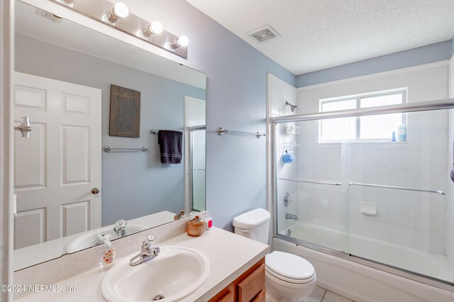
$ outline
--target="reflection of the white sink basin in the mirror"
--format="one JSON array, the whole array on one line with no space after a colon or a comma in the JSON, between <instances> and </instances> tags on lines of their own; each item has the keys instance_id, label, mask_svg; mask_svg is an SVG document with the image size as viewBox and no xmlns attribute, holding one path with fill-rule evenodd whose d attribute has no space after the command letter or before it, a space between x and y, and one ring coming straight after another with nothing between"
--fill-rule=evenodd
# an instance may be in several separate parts
<instances>
[{"instance_id":1,"label":"reflection of the white sink basin in the mirror","mask_svg":"<svg viewBox=\"0 0 454 302\"><path fill-rule=\"evenodd\" d=\"M127 225L126 230L128 230L128 235L146 230L145 225ZM98 235L98 230L89 230L88 232L82 233L79 237L76 237L66 246L66 252L72 253L79 250L84 250L88 247L93 247L99 245L99 242L96 240L96 235ZM117 238L116 233L114 232L114 225L109 225L107 227L101 228L101 235L111 235L110 240Z\"/></svg>"}]
</instances>

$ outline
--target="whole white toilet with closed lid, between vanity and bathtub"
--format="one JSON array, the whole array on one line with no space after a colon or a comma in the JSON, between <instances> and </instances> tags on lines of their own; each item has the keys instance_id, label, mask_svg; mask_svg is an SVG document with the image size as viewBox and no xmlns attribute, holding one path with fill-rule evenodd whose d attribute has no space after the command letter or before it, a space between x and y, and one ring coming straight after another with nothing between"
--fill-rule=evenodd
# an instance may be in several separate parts
<instances>
[{"instance_id":1,"label":"whole white toilet with closed lid, between vanity and bathtub","mask_svg":"<svg viewBox=\"0 0 454 302\"><path fill-rule=\"evenodd\" d=\"M233 218L235 233L267 244L270 212L257 208ZM317 276L309 261L287 252L265 256L267 302L299 302L314 290Z\"/></svg>"}]
</instances>

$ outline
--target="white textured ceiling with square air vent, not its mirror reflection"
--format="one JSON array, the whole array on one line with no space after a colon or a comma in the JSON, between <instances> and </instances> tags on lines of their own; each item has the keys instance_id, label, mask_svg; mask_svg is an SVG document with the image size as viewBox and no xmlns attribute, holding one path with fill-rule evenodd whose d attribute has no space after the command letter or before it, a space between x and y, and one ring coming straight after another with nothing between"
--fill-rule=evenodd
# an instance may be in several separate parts
<instances>
[{"instance_id":1,"label":"white textured ceiling with square air vent, not its mirror reflection","mask_svg":"<svg viewBox=\"0 0 454 302\"><path fill-rule=\"evenodd\" d=\"M454 0L187 0L294 74L450 40ZM281 38L248 37L269 24Z\"/></svg>"}]
</instances>

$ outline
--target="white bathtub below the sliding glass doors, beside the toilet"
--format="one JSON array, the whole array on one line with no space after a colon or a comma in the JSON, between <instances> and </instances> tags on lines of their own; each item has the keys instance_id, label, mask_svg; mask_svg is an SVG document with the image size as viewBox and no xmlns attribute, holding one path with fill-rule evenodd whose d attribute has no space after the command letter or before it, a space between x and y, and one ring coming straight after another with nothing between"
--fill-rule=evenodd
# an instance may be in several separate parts
<instances>
[{"instance_id":1,"label":"white bathtub below the sliding glass doors, beside the toilet","mask_svg":"<svg viewBox=\"0 0 454 302\"><path fill-rule=\"evenodd\" d=\"M292 233L294 232L292 231ZM319 235L322 235L323 233L325 232L321 232ZM332 235L333 234L331 234L331 236ZM378 240L370 240L359 236L353 237L354 239L352 239L354 242L358 242L358 240L362 241L364 243L364 245L362 245L363 247L371 248L375 246L376 248L378 243L382 243L384 244L384 249L387 250L385 252L386 254L389 255L389 252L392 252L389 249L393 245L387 245L386 242L379 242ZM397 249L394 250L394 253L392 252L392 255L395 258L402 257L402 255L399 255L400 246L394 245L394 247ZM403 248L408 252L408 249L405 247ZM294 255L304 257L314 265L318 279L317 284L319 286L339 293L355 301L454 301L454 292L452 291L438 289L435 286L406 279L402 276L384 272L373 267L367 267L365 265L349 261L341 257L328 255L324 252L312 250L301 245L295 245L292 242L279 238L272 239L272 250L290 252ZM411 258L417 258L418 256L422 255L412 255ZM405 257L405 254L403 257ZM429 259L421 258L421 260L427 261ZM435 263L436 262L438 261L435 261ZM435 263L432 262L432 264ZM445 267L445 269L450 270L448 267Z\"/></svg>"}]
</instances>

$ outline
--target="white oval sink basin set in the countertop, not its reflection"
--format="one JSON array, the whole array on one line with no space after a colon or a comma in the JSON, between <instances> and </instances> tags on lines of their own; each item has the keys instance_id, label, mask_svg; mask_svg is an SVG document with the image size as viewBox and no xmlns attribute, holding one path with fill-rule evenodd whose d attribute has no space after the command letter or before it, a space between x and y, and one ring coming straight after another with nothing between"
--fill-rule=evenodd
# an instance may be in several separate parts
<instances>
[{"instance_id":1,"label":"white oval sink basin set in the countertop, not its reflection","mask_svg":"<svg viewBox=\"0 0 454 302\"><path fill-rule=\"evenodd\" d=\"M159 245L157 245L159 246ZM160 254L135 267L125 257L109 269L101 283L102 296L109 302L180 301L204 284L210 271L205 255L187 247L160 247Z\"/></svg>"}]
</instances>

